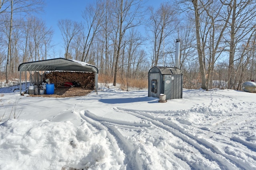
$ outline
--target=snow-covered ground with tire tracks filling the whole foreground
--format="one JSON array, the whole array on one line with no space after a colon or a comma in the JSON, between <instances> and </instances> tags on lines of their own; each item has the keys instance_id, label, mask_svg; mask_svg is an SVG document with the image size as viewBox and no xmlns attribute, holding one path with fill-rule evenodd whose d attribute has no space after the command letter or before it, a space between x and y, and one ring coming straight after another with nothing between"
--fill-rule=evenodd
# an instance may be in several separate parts
<instances>
[{"instance_id":1,"label":"snow-covered ground with tire tracks filling the whole foreground","mask_svg":"<svg viewBox=\"0 0 256 170\"><path fill-rule=\"evenodd\" d=\"M2 92L1 119L3 170L256 169L255 93L184 89L159 103L104 86L74 98Z\"/></svg>"}]
</instances>

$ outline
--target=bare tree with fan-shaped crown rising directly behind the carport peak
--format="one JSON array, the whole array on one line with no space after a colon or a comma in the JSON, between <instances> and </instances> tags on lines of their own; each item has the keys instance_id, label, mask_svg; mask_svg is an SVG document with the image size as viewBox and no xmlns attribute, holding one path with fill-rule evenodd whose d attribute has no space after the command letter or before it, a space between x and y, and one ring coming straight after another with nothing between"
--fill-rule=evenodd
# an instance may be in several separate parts
<instances>
[{"instance_id":1,"label":"bare tree with fan-shaped crown rising directly behind the carport peak","mask_svg":"<svg viewBox=\"0 0 256 170\"><path fill-rule=\"evenodd\" d=\"M60 28L62 38L65 44L65 58L70 58L69 47L72 39L81 31L81 24L72 20L59 20L58 27Z\"/></svg>"}]
</instances>

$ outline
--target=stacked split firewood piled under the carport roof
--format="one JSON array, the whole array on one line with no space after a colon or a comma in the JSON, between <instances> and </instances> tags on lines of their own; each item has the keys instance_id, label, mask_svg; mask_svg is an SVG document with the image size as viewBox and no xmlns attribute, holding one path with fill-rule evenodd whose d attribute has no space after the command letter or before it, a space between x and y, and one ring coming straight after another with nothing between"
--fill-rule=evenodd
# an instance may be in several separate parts
<instances>
[{"instance_id":1,"label":"stacked split firewood piled under the carport roof","mask_svg":"<svg viewBox=\"0 0 256 170\"><path fill-rule=\"evenodd\" d=\"M49 79L50 83L54 83L56 87L72 83L74 86L93 90L95 86L94 73L88 72L53 71L45 74L44 81L46 79Z\"/></svg>"}]
</instances>

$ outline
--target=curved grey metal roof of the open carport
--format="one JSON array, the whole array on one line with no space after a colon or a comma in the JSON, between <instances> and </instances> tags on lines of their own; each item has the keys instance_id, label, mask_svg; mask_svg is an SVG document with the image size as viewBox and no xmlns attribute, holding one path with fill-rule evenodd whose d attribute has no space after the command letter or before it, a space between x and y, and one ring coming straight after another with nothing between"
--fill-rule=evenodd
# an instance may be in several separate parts
<instances>
[{"instance_id":1,"label":"curved grey metal roof of the open carport","mask_svg":"<svg viewBox=\"0 0 256 170\"><path fill-rule=\"evenodd\" d=\"M19 65L18 71L85 71L98 73L98 68L82 61L56 58L22 63Z\"/></svg>"}]
</instances>

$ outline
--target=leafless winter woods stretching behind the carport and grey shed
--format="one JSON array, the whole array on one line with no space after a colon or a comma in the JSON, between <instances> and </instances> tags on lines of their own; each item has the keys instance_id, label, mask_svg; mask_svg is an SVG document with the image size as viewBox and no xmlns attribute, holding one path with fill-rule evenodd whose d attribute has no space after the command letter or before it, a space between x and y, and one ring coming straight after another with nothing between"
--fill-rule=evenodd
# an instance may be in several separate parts
<instances>
[{"instance_id":1,"label":"leafless winter woods stretching behind the carport and grey shed","mask_svg":"<svg viewBox=\"0 0 256 170\"><path fill-rule=\"evenodd\" d=\"M56 57L52 28L38 14L44 0L0 0L0 79L18 77L18 65ZM68 12L68 11L67 11ZM174 66L180 43L184 88L241 89L255 79L255 0L98 0L81 23L63 18L64 57L95 65L117 79L147 79L153 66Z\"/></svg>"}]
</instances>

